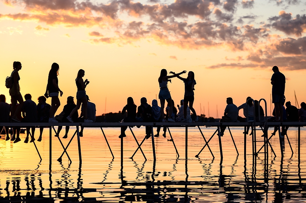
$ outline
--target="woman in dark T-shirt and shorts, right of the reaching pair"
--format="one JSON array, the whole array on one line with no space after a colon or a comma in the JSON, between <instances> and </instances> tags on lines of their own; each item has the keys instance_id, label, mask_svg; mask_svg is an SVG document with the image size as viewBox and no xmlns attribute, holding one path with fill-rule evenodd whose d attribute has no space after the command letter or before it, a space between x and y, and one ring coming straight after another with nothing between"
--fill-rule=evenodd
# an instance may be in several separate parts
<instances>
[{"instance_id":1,"label":"woman in dark T-shirt and shorts, right of the reaching pair","mask_svg":"<svg viewBox=\"0 0 306 203\"><path fill-rule=\"evenodd\" d=\"M170 72L172 74L175 74L175 72ZM194 72L189 71L187 78L182 78L181 76L177 76L177 78L181 79L185 83L185 94L184 94L184 120L181 120L181 122L187 122L187 106L189 102L189 109L192 111L193 115L195 115L195 122L199 120L199 117L196 115L196 110L193 108L193 102L194 102L194 85L196 84L196 80L194 79Z\"/></svg>"}]
</instances>

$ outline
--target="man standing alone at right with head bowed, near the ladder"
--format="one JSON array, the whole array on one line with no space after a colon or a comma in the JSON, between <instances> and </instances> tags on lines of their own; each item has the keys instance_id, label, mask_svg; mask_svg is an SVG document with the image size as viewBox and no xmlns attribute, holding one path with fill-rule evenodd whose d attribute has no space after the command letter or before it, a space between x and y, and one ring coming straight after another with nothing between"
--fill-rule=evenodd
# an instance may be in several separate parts
<instances>
[{"instance_id":1,"label":"man standing alone at right with head bowed, near the ladder","mask_svg":"<svg viewBox=\"0 0 306 203\"><path fill-rule=\"evenodd\" d=\"M272 84L272 103L275 106L275 121L283 121L283 108L282 103L284 101L284 94L285 94L285 83L286 78L284 74L279 72L277 66L273 66L272 71L274 72L271 77L271 84Z\"/></svg>"}]
</instances>

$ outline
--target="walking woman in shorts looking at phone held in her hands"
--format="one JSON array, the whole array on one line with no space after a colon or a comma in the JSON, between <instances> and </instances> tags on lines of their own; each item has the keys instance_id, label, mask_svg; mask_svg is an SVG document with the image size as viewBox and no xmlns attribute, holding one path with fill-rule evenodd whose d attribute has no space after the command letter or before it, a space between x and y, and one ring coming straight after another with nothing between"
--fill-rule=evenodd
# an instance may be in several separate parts
<instances>
[{"instance_id":1,"label":"walking woman in shorts looking at phone held in her hands","mask_svg":"<svg viewBox=\"0 0 306 203\"><path fill-rule=\"evenodd\" d=\"M87 117L87 98L86 98L86 91L85 88L88 85L89 81L86 79L83 80L83 77L85 75L85 71L83 69L80 69L76 76L76 108L72 110L69 116L67 116L67 119L73 123L72 115L80 109L81 104L83 104L83 111L84 111L84 123L92 123L92 120L88 119Z\"/></svg>"}]
</instances>

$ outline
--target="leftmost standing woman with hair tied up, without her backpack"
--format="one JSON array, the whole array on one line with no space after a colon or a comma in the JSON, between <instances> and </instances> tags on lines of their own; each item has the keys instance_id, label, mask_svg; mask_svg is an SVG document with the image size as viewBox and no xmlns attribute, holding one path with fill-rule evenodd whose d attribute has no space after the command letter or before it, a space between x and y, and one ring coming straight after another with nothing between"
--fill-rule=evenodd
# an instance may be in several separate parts
<instances>
[{"instance_id":1,"label":"leftmost standing woman with hair tied up, without her backpack","mask_svg":"<svg viewBox=\"0 0 306 203\"><path fill-rule=\"evenodd\" d=\"M20 76L18 73L18 71L20 71L21 68L22 66L19 61L13 62L13 72L11 74L13 85L9 89L9 95L11 96L11 102L12 102L11 120L16 121L16 122L21 122L21 120L17 118L17 115L21 113L21 109L23 106L23 98L21 96L20 86L19 86ZM17 101L19 102L19 105L18 105L18 108L15 108Z\"/></svg>"}]
</instances>

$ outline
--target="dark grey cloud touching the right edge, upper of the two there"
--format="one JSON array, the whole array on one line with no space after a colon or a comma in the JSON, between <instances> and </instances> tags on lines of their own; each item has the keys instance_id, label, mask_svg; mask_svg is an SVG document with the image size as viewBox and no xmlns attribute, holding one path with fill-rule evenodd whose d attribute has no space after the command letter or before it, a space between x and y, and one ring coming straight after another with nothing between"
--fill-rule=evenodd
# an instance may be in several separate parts
<instances>
[{"instance_id":1,"label":"dark grey cloud touching the right edge, upper of the two there","mask_svg":"<svg viewBox=\"0 0 306 203\"><path fill-rule=\"evenodd\" d=\"M292 18L292 13L286 13L285 11L280 11L279 16L274 16L268 19L273 22L270 26L273 28L285 32L287 35L294 34L301 36L306 29L306 15L303 16L296 15Z\"/></svg>"}]
</instances>

